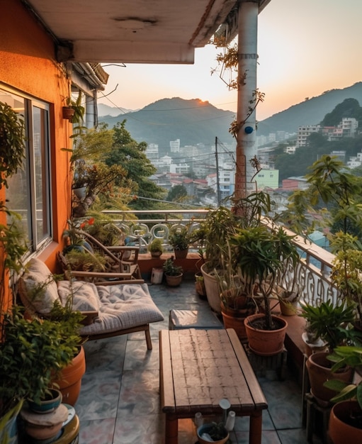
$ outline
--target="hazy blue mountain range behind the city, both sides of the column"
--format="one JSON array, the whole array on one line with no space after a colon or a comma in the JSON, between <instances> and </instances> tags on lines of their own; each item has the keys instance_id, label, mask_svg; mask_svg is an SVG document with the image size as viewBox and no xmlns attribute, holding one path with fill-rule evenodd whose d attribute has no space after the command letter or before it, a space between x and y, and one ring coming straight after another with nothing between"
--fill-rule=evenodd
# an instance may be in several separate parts
<instances>
[{"instance_id":1,"label":"hazy blue mountain range behind the city, both sides of the column","mask_svg":"<svg viewBox=\"0 0 362 444\"><path fill-rule=\"evenodd\" d=\"M259 121L256 135L268 135L276 131L296 133L299 126L316 125L345 99L356 99L362 104L362 82L343 89L330 89L319 96L306 99ZM111 107L108 107L111 108ZM159 99L140 110L119 113L118 116L99 116L100 122L112 128L127 120L125 128L137 141L155 143L163 150L169 149L171 140L180 139L181 146L213 145L215 137L222 143L234 143L229 133L236 113L217 109L208 101L173 97Z\"/></svg>"}]
</instances>

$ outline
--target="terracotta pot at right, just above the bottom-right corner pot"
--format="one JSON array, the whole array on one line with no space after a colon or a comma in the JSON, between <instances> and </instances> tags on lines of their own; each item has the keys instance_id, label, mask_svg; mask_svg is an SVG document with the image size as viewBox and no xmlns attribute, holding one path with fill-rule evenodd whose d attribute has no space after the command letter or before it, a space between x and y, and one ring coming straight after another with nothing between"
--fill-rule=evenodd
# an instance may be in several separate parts
<instances>
[{"instance_id":1,"label":"terracotta pot at right, just above the bottom-right corner pot","mask_svg":"<svg viewBox=\"0 0 362 444\"><path fill-rule=\"evenodd\" d=\"M324 382L329 379L340 379L341 381L349 382L353 373L350 367L332 373L332 362L327 359L327 356L327 352L312 353L305 364L310 379L310 391L319 401L319 404L329 402L329 399L336 395L334 390L324 387Z\"/></svg>"}]
</instances>

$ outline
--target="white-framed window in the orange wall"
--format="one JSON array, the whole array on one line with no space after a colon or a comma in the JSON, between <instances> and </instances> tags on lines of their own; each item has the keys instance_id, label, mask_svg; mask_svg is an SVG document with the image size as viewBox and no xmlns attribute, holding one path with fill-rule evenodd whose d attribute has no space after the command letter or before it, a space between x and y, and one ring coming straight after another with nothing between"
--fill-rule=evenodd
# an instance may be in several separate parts
<instances>
[{"instance_id":1,"label":"white-framed window in the orange wall","mask_svg":"<svg viewBox=\"0 0 362 444\"><path fill-rule=\"evenodd\" d=\"M26 95L0 88L0 101L21 114L26 123L23 169L9 179L6 206L21 216L30 252L52 234L49 106Z\"/></svg>"}]
</instances>

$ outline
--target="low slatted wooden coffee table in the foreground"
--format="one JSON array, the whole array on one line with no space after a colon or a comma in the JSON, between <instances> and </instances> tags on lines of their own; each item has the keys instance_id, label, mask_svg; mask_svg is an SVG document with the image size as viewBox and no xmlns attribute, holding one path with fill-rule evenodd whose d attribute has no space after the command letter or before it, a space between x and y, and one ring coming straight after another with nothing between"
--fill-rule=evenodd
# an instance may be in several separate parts
<instances>
[{"instance_id":1,"label":"low slatted wooden coffee table in the foreground","mask_svg":"<svg viewBox=\"0 0 362 444\"><path fill-rule=\"evenodd\" d=\"M261 444L266 399L244 348L227 330L159 332L160 392L166 414L165 444L178 443L179 418L220 416L220 399L230 401L237 416L249 416L249 444Z\"/></svg>"}]
</instances>

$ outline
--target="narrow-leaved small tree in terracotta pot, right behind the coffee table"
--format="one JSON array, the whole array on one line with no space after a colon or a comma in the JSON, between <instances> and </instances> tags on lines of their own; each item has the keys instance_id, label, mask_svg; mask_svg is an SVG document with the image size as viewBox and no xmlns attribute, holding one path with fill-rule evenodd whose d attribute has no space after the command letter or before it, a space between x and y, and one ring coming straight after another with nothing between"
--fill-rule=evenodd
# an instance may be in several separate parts
<instances>
[{"instance_id":1,"label":"narrow-leaved small tree in terracotta pot, right behind the coffee table","mask_svg":"<svg viewBox=\"0 0 362 444\"><path fill-rule=\"evenodd\" d=\"M259 225L239 229L229 243L234 262L232 268L239 270L244 294L253 298L263 311L244 321L249 347L261 355L280 353L288 323L272 315L271 296L278 271L283 269L287 260L299 257L293 236L285 233L282 227L269 229Z\"/></svg>"}]
</instances>

